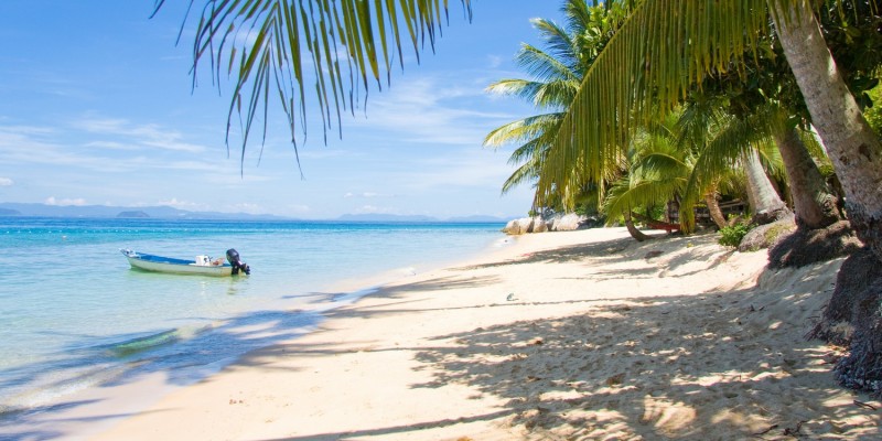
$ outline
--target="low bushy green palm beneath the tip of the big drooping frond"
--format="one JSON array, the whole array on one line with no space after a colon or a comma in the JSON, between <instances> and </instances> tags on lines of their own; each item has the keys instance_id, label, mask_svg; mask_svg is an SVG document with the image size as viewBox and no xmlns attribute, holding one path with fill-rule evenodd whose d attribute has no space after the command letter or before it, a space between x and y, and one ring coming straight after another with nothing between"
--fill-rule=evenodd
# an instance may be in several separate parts
<instances>
[{"instance_id":1,"label":"low bushy green palm beneath the tip of the big drooping frond","mask_svg":"<svg viewBox=\"0 0 882 441\"><path fill-rule=\"evenodd\" d=\"M692 208L701 200L723 227L727 222L716 200L723 189L731 195L747 195L754 223L789 214L766 174L767 169L773 173L781 169L775 146L744 130L747 125L724 115L717 100L698 95L632 138L628 173L616 181L604 203L609 219L627 216L632 207L676 201L680 229L688 233L695 228ZM746 185L736 184L745 181Z\"/></svg>"}]
</instances>

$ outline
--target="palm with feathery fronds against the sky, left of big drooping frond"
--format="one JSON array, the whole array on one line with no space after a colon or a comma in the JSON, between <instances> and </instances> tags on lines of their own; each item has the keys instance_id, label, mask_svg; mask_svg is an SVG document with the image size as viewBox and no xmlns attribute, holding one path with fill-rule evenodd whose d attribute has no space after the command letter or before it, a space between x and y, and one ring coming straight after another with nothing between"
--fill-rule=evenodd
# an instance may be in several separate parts
<instances>
[{"instance_id":1,"label":"palm with feathery fronds against the sky, left of big drooping frond","mask_svg":"<svg viewBox=\"0 0 882 441\"><path fill-rule=\"evenodd\" d=\"M564 28L546 19L531 20L548 50L524 43L516 56L533 78L506 78L487 87L490 93L516 96L548 111L501 126L484 139L484 146L494 148L520 143L508 159L518 168L503 184L503 193L536 181L584 73L627 14L622 6L589 7L587 0L567 0L561 10Z\"/></svg>"}]
</instances>

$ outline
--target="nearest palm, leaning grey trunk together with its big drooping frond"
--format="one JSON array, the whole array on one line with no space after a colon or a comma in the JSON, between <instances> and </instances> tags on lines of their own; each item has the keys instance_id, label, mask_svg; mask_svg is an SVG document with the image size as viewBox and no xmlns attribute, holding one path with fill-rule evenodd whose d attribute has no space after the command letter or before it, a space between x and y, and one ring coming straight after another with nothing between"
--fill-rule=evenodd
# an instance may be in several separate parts
<instances>
[{"instance_id":1,"label":"nearest palm, leaning grey trunk together with its big drooping frond","mask_svg":"<svg viewBox=\"0 0 882 441\"><path fill-rule=\"evenodd\" d=\"M882 146L848 93L808 0L636 2L587 73L542 164L539 193L571 194L567 187L584 175L602 179L632 127L669 111L731 62L743 66L745 49L757 46L753 30L766 30L770 18L842 182L852 225L882 259Z\"/></svg>"}]
</instances>

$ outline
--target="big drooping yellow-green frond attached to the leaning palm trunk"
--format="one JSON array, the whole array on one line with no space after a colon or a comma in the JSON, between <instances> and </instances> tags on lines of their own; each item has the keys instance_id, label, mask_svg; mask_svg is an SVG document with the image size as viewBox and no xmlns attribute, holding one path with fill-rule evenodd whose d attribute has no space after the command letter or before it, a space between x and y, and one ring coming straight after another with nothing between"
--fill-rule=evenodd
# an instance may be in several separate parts
<instances>
[{"instance_id":1,"label":"big drooping yellow-green frond attached to the leaning palm trunk","mask_svg":"<svg viewBox=\"0 0 882 441\"><path fill-rule=\"evenodd\" d=\"M706 75L739 65L732 61L767 28L765 0L635 3L561 122L540 172L540 198L571 204L584 179L600 182L621 160L636 122L674 109Z\"/></svg>"}]
</instances>

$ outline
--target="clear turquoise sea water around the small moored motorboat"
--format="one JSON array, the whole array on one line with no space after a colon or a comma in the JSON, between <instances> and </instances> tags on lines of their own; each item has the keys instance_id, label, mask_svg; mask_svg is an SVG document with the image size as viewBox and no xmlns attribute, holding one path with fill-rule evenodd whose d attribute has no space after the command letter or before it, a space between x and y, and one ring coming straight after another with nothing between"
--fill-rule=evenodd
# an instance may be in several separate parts
<instances>
[{"instance_id":1,"label":"clear turquoise sea water around the small moored motorboat","mask_svg":"<svg viewBox=\"0 0 882 441\"><path fill-rule=\"evenodd\" d=\"M329 291L335 282L477 255L502 226L0 217L0 415L139 373L192 383L365 293ZM251 275L143 272L120 248L187 259L235 248Z\"/></svg>"}]
</instances>

